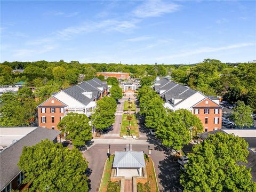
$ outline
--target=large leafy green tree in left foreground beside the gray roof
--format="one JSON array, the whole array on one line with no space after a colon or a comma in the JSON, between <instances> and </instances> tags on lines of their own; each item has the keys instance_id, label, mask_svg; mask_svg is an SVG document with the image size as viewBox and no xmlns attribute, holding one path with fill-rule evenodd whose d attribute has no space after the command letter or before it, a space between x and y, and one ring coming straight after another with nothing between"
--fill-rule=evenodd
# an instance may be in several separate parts
<instances>
[{"instance_id":1,"label":"large leafy green tree in left foreground beside the gray roof","mask_svg":"<svg viewBox=\"0 0 256 192\"><path fill-rule=\"evenodd\" d=\"M25 172L23 183L31 191L89 191L85 171L88 163L76 148L43 140L23 147L18 166Z\"/></svg>"}]
</instances>

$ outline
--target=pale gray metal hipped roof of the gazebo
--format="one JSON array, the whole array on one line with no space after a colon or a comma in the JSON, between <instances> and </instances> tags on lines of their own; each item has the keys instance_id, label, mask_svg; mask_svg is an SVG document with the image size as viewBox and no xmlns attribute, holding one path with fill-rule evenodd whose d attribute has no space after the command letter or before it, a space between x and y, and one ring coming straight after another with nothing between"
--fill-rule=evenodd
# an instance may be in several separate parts
<instances>
[{"instance_id":1,"label":"pale gray metal hipped roof of the gazebo","mask_svg":"<svg viewBox=\"0 0 256 192\"><path fill-rule=\"evenodd\" d=\"M113 167L145 167L143 151L116 151Z\"/></svg>"}]
</instances>

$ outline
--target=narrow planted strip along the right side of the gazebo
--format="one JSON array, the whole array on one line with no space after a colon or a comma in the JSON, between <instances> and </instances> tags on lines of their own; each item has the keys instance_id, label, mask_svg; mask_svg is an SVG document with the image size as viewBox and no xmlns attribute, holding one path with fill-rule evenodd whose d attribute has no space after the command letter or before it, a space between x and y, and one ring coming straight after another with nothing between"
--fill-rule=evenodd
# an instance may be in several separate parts
<instances>
[{"instance_id":1,"label":"narrow planted strip along the right side of the gazebo","mask_svg":"<svg viewBox=\"0 0 256 192\"><path fill-rule=\"evenodd\" d=\"M152 159L149 158L149 162L147 159L145 159L146 162L146 169L147 169L147 174L148 174L148 181L149 181L149 186L150 186L150 191L157 191L157 180L155 177L155 171L154 171L154 165L152 162Z\"/></svg>"}]
</instances>

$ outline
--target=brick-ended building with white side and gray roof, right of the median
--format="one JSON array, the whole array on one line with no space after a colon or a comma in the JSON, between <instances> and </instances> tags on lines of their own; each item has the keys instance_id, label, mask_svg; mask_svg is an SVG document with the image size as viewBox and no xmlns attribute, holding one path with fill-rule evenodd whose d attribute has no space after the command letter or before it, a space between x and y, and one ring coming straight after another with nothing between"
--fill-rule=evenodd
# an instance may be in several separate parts
<instances>
[{"instance_id":1,"label":"brick-ended building with white side and gray roof, right of the median","mask_svg":"<svg viewBox=\"0 0 256 192\"><path fill-rule=\"evenodd\" d=\"M187 109L201 119L205 132L221 129L219 98L207 97L167 78L155 81L154 89L164 99L164 107L172 111Z\"/></svg>"}]
</instances>

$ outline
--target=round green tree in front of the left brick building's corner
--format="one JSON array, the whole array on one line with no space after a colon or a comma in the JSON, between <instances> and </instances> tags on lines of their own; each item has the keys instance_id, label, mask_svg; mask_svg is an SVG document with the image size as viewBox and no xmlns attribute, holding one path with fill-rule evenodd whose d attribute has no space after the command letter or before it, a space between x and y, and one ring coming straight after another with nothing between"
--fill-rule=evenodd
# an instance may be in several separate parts
<instances>
[{"instance_id":1,"label":"round green tree in front of the left brick building's corner","mask_svg":"<svg viewBox=\"0 0 256 192\"><path fill-rule=\"evenodd\" d=\"M68 133L66 139L71 139L74 146L84 146L92 139L90 119L84 114L68 113L58 124L62 133Z\"/></svg>"}]
</instances>

